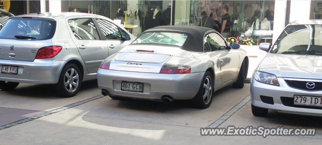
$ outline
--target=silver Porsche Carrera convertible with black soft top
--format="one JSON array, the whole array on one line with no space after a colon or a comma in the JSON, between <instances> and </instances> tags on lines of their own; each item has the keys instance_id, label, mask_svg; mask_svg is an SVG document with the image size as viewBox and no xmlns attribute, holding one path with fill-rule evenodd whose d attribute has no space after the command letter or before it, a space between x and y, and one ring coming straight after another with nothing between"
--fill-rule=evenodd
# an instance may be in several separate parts
<instances>
[{"instance_id":1,"label":"silver Porsche Carrera convertible with black soft top","mask_svg":"<svg viewBox=\"0 0 322 145\"><path fill-rule=\"evenodd\" d=\"M244 87L248 62L238 44L212 29L160 26L105 59L98 85L113 99L191 100L207 108L214 91Z\"/></svg>"}]
</instances>

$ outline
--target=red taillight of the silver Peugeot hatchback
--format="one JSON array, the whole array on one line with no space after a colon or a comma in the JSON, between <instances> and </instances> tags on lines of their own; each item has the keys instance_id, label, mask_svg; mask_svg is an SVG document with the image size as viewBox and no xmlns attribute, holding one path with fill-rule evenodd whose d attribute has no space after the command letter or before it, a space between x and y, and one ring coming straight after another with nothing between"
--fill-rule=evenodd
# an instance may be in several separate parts
<instances>
[{"instance_id":1,"label":"red taillight of the silver Peugeot hatchback","mask_svg":"<svg viewBox=\"0 0 322 145\"><path fill-rule=\"evenodd\" d=\"M42 47L38 50L35 59L44 59L44 58L52 58L55 57L60 51L61 46L46 46Z\"/></svg>"}]
</instances>

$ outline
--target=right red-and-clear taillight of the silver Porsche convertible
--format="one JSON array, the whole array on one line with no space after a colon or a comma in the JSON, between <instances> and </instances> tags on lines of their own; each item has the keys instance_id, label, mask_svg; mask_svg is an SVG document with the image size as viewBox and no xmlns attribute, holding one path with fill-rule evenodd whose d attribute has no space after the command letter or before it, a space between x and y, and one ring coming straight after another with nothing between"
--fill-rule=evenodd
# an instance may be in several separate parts
<instances>
[{"instance_id":1,"label":"right red-and-clear taillight of the silver Porsche convertible","mask_svg":"<svg viewBox=\"0 0 322 145\"><path fill-rule=\"evenodd\" d=\"M160 70L160 74L190 74L191 67L186 65L165 64Z\"/></svg>"}]
</instances>

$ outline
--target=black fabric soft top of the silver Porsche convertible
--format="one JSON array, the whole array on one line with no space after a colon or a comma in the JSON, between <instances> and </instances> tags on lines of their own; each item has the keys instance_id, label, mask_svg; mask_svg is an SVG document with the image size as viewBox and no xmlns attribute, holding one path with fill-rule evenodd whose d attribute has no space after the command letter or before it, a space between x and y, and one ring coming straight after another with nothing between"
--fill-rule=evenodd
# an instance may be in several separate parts
<instances>
[{"instance_id":1,"label":"black fabric soft top of the silver Porsche convertible","mask_svg":"<svg viewBox=\"0 0 322 145\"><path fill-rule=\"evenodd\" d=\"M203 52L203 38L208 33L216 32L213 29L197 26L158 26L144 31L150 32L176 32L188 35L185 44L182 46L184 50Z\"/></svg>"}]
</instances>

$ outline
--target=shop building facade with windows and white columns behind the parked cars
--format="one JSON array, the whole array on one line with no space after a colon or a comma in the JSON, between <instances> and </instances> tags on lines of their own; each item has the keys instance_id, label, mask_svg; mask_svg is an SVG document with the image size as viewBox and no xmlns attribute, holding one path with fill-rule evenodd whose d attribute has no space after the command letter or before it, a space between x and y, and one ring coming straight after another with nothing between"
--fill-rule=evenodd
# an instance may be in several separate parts
<instances>
[{"instance_id":1,"label":"shop building facade with windows and white columns behind the parked cars","mask_svg":"<svg viewBox=\"0 0 322 145\"><path fill-rule=\"evenodd\" d=\"M8 2L11 5L8 8ZM14 3L14 4L13 4ZM6 6L5 6L6 4ZM81 12L106 16L139 35L146 29L164 25L204 26L201 14L215 15L219 25L226 19L230 41L258 45L272 43L294 20L322 18L322 2L299 1L0 1L0 7L17 14L41 12ZM17 8L15 8L17 7ZM18 7L21 7L18 9ZM223 18L223 9L227 14ZM299 11L301 10L301 11ZM221 27L220 27L221 28ZM225 30L226 30L225 29ZM227 31L228 32L228 31Z\"/></svg>"}]
</instances>

